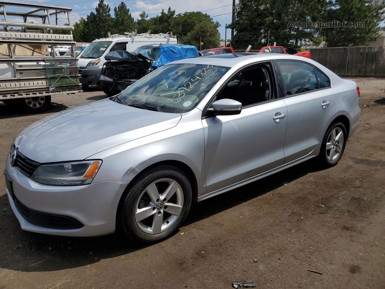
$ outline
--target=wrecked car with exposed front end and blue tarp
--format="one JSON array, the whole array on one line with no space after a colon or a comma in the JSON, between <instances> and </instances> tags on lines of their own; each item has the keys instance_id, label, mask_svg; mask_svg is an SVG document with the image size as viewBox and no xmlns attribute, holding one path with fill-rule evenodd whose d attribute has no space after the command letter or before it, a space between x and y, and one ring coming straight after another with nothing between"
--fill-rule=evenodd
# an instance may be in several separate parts
<instances>
[{"instance_id":1,"label":"wrecked car with exposed front end and blue tarp","mask_svg":"<svg viewBox=\"0 0 385 289\"><path fill-rule=\"evenodd\" d=\"M194 45L182 44L150 44L134 52L112 51L105 55L110 61L104 63L97 83L105 94L114 96L154 69L199 55Z\"/></svg>"}]
</instances>

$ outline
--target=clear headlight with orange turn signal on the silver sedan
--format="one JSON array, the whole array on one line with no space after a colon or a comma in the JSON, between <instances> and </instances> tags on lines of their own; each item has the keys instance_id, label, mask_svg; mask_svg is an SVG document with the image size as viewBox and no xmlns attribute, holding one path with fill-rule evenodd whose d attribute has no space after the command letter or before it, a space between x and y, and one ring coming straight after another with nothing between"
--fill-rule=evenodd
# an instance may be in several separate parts
<instances>
[{"instance_id":1,"label":"clear headlight with orange turn signal on the silver sedan","mask_svg":"<svg viewBox=\"0 0 385 289\"><path fill-rule=\"evenodd\" d=\"M40 165L31 178L46 185L87 185L94 179L101 164L101 160L93 160Z\"/></svg>"}]
</instances>

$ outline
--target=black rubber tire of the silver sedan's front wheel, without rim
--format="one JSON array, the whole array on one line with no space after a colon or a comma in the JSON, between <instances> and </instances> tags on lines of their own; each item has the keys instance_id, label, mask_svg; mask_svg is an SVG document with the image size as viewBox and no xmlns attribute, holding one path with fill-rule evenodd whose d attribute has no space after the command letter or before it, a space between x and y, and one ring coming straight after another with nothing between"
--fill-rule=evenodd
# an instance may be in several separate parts
<instances>
[{"instance_id":1,"label":"black rubber tire of the silver sedan's front wheel, without rim","mask_svg":"<svg viewBox=\"0 0 385 289\"><path fill-rule=\"evenodd\" d=\"M149 234L144 232L136 222L136 205L140 204L142 200L142 198L140 197L142 196L144 190L146 190L146 188L150 184L164 178L175 180L180 185L183 191L181 193L181 195L183 195L182 210L179 216L175 219L175 221L170 224L169 228L159 234ZM175 230L177 230L180 227L181 223L185 220L191 207L191 198L191 185L186 175L181 170L169 165L156 166L148 171L145 171L144 173L141 173L141 175L138 176L136 180L134 180L134 183L132 183L130 187L127 187L126 192L122 196L121 201L119 203L119 208L117 212L117 227L134 242L151 243L164 239L171 235ZM152 205L150 205L150 207L151 206ZM166 209L166 207L167 206L165 203L164 209ZM154 208L154 211L157 211L157 205L155 205ZM149 217L150 222L151 218L153 218L155 215L156 213ZM164 220L165 217L167 217L166 213L162 215L162 224L165 224L166 222L168 223L167 219Z\"/></svg>"}]
</instances>

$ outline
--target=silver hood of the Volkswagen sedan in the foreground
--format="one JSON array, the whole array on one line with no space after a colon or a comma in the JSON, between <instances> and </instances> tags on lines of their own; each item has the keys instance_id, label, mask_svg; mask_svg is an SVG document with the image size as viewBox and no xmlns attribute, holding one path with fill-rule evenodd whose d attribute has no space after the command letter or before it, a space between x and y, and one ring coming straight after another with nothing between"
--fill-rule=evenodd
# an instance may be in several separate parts
<instances>
[{"instance_id":1,"label":"silver hood of the Volkswagen sedan in the foreground","mask_svg":"<svg viewBox=\"0 0 385 289\"><path fill-rule=\"evenodd\" d=\"M126 106L110 99L67 109L24 129L18 150L39 163L83 160L102 150L172 128L181 114Z\"/></svg>"}]
</instances>

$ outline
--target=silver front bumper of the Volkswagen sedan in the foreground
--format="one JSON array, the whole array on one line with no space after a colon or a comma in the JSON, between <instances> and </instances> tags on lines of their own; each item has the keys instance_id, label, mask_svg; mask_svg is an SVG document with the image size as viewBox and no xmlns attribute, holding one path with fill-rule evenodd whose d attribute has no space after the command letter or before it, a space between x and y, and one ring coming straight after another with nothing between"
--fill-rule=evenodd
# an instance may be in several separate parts
<instances>
[{"instance_id":1,"label":"silver front bumper of the Volkswagen sedan in the foreground","mask_svg":"<svg viewBox=\"0 0 385 289\"><path fill-rule=\"evenodd\" d=\"M9 154L5 167L13 191L12 196L7 188L9 202L23 230L79 237L105 235L115 231L116 210L126 185L113 181L68 187L42 185L12 167ZM25 212L22 211L23 207L37 211L40 215L69 216L83 226L78 229L42 227L36 225L39 220L28 222Z\"/></svg>"}]
</instances>

